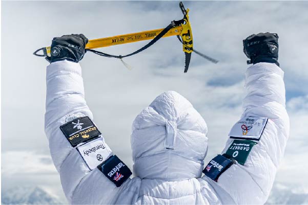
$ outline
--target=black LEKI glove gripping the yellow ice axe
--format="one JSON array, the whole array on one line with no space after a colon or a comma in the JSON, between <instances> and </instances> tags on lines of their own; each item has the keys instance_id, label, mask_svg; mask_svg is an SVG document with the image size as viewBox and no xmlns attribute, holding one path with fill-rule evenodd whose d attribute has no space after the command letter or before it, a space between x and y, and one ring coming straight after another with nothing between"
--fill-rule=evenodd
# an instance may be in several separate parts
<instances>
[{"instance_id":1,"label":"black LEKI glove gripping the yellow ice axe","mask_svg":"<svg viewBox=\"0 0 308 205\"><path fill-rule=\"evenodd\" d=\"M88 38L86 38L84 34L55 37L51 43L51 57L46 57L46 60L51 63L60 60L78 62L83 59L85 55L85 47L87 43Z\"/></svg>"}]
</instances>

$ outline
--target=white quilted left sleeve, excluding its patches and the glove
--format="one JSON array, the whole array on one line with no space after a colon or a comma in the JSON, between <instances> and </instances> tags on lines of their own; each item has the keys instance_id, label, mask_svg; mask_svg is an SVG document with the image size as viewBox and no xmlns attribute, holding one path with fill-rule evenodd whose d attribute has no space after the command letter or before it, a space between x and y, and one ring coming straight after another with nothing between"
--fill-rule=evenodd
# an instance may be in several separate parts
<instances>
[{"instance_id":1,"label":"white quilted left sleeve, excluding its patches and the glove","mask_svg":"<svg viewBox=\"0 0 308 205\"><path fill-rule=\"evenodd\" d=\"M76 148L66 139L60 126L92 113L85 101L79 63L57 61L47 66L45 132L52 160L70 203L113 203L116 186L97 168L92 171Z\"/></svg>"}]
</instances>

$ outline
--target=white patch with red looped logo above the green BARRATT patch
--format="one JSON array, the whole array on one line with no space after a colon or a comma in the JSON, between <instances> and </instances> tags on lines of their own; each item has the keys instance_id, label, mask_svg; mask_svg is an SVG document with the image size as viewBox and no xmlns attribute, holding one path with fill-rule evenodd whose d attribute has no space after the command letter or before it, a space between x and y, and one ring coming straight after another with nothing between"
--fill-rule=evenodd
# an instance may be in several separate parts
<instances>
[{"instance_id":1,"label":"white patch with red looped logo above the green BARRATT patch","mask_svg":"<svg viewBox=\"0 0 308 205\"><path fill-rule=\"evenodd\" d=\"M242 118L232 127L229 136L232 139L259 141L267 122L268 118Z\"/></svg>"}]
</instances>

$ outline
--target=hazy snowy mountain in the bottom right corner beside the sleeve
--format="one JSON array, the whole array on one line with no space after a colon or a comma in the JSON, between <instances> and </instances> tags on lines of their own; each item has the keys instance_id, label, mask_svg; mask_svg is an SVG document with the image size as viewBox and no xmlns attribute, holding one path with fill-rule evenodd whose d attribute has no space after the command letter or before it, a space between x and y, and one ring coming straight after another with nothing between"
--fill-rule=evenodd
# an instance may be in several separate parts
<instances>
[{"instance_id":1,"label":"hazy snowy mountain in the bottom right corner beside the sleeve","mask_svg":"<svg viewBox=\"0 0 308 205\"><path fill-rule=\"evenodd\" d=\"M265 204L308 204L308 190L295 185L274 184Z\"/></svg>"}]
</instances>

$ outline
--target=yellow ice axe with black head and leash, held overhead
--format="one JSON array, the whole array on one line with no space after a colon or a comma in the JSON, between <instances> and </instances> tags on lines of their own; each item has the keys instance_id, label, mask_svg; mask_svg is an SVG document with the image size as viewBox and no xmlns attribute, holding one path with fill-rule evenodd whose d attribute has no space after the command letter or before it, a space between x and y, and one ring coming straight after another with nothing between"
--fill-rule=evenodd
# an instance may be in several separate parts
<instances>
[{"instance_id":1,"label":"yellow ice axe with black head and leash, held overhead","mask_svg":"<svg viewBox=\"0 0 308 205\"><path fill-rule=\"evenodd\" d=\"M169 36L177 36L178 39L183 44L183 51L185 53L185 70L184 73L187 73L190 59L191 59L191 53L194 51L196 54L202 56L203 58L206 58L207 60L217 63L218 61L208 57L204 54L199 53L193 48L193 34L191 25L189 22L189 9L185 9L182 2L180 2L180 9L184 15L184 17L181 20L173 20L170 25L168 25L165 29L156 29L156 30L150 30L150 31L142 31L138 33L131 33L131 34L124 34L124 35L118 35L118 36L112 36L107 38L98 38L89 40L89 42L86 44L86 51L93 52L95 54L98 54L100 56L105 57L112 57L112 58L125 58L128 56L135 55L147 48L149 48L151 45L153 45L157 40L159 40L162 37L169 37ZM141 49L128 54L128 55L110 55L107 53L102 53L99 51L95 51L93 49L102 48L102 47L109 47L112 45L118 45L118 44L124 44L124 43L131 43L131 42L137 42L141 40L150 40L152 39L148 44L146 44ZM33 54L36 56L50 56L50 47L44 47L42 49L36 50ZM39 51L43 51L43 54L37 54Z\"/></svg>"}]
</instances>

